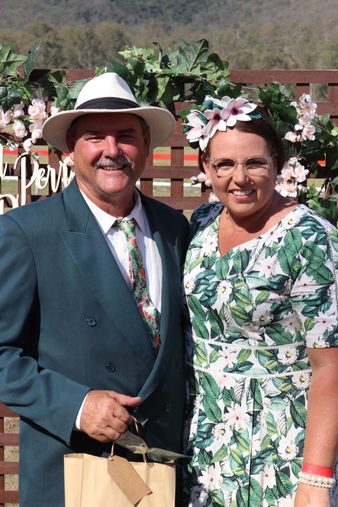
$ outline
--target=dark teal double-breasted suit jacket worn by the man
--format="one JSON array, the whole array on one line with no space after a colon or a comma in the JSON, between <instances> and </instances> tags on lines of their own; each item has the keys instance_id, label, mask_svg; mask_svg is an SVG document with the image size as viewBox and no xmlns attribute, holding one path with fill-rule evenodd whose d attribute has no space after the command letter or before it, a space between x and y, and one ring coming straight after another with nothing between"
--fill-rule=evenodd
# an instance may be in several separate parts
<instances>
[{"instance_id":1,"label":"dark teal double-breasted suit jacket worn by the man","mask_svg":"<svg viewBox=\"0 0 338 507\"><path fill-rule=\"evenodd\" d=\"M141 194L162 260L162 345L142 318L75 181L0 217L0 400L20 420L20 507L62 507L63 455L106 456L73 431L89 389L142 402L149 446L181 451L184 407L182 214ZM124 451L121 451L124 452Z\"/></svg>"}]
</instances>

